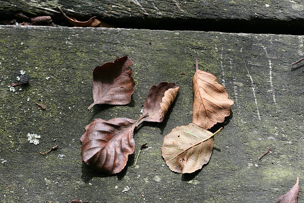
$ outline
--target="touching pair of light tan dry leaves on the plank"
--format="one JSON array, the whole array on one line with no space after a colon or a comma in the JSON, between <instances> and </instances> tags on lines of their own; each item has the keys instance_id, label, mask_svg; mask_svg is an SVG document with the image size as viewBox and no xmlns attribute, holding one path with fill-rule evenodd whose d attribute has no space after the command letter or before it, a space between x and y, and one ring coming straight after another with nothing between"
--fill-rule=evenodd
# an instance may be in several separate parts
<instances>
[{"instance_id":1,"label":"touching pair of light tan dry leaves on the plank","mask_svg":"<svg viewBox=\"0 0 304 203\"><path fill-rule=\"evenodd\" d=\"M224 122L230 114L232 100L217 77L198 69L193 76L192 123L174 128L163 139L161 155L171 171L193 173L209 162L214 145L214 135L207 129Z\"/></svg>"}]
</instances>

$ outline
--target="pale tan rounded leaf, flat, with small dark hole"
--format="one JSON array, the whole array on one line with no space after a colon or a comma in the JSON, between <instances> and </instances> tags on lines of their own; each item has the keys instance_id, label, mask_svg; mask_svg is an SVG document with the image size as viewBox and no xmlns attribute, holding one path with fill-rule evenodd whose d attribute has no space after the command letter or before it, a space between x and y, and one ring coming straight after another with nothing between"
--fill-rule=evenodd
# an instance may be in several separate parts
<instances>
[{"instance_id":1,"label":"pale tan rounded leaf, flat, with small dark hole","mask_svg":"<svg viewBox=\"0 0 304 203\"><path fill-rule=\"evenodd\" d=\"M163 139L161 155L171 171L193 173L209 162L214 145L214 135L190 123L174 128Z\"/></svg>"}]
</instances>

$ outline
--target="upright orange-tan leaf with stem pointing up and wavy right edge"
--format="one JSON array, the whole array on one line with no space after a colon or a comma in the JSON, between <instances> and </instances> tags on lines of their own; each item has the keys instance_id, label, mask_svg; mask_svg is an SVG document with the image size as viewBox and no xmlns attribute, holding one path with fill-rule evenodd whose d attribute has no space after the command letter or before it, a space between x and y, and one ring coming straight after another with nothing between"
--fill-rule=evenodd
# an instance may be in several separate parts
<instances>
[{"instance_id":1,"label":"upright orange-tan leaf with stem pointing up and wavy right edge","mask_svg":"<svg viewBox=\"0 0 304 203\"><path fill-rule=\"evenodd\" d=\"M198 69L193 76L193 114L192 122L209 129L217 122L224 122L230 115L232 100L228 99L228 93L224 86L218 83L216 76Z\"/></svg>"}]
</instances>

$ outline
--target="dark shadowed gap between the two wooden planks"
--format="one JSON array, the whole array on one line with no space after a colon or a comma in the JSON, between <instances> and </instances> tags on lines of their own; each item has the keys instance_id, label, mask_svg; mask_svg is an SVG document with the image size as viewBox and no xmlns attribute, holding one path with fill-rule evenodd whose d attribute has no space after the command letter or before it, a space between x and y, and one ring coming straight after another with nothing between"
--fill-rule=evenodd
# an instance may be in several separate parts
<instances>
[{"instance_id":1,"label":"dark shadowed gap between the two wooden planks","mask_svg":"<svg viewBox=\"0 0 304 203\"><path fill-rule=\"evenodd\" d=\"M0 24L16 19L16 13L0 15ZM26 14L26 13L24 13ZM27 15L27 14L26 14ZM35 17L30 16L29 17ZM92 16L71 16L77 20L88 20ZM53 22L59 26L72 26L61 14L52 16ZM304 35L304 19L195 19L195 18L104 18L97 19L119 28L152 29L152 30L197 30L219 31L228 33L258 33L258 34L291 34ZM20 23L22 20L18 20Z\"/></svg>"}]
</instances>

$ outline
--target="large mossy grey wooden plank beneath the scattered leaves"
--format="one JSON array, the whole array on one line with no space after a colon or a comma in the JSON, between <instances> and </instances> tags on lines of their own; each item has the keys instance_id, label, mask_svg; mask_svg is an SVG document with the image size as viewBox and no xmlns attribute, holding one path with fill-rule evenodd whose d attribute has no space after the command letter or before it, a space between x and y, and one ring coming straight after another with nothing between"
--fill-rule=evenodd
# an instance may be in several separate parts
<instances>
[{"instance_id":1,"label":"large mossy grey wooden plank beneath the scattered leaves","mask_svg":"<svg viewBox=\"0 0 304 203\"><path fill-rule=\"evenodd\" d=\"M290 65L304 56L303 43L304 36L291 35L0 26L0 202L274 202L303 173L304 73L303 65ZM134 61L131 104L88 111L94 66L123 55ZM160 147L175 126L191 122L195 58L235 104L210 163L182 176L168 169ZM30 85L10 92L20 70ZM180 92L163 123L136 133L137 149L151 147L138 167L108 177L82 164L84 126L96 117L138 118L150 87L161 81ZM27 142L27 133L41 135L40 144Z\"/></svg>"}]
</instances>

